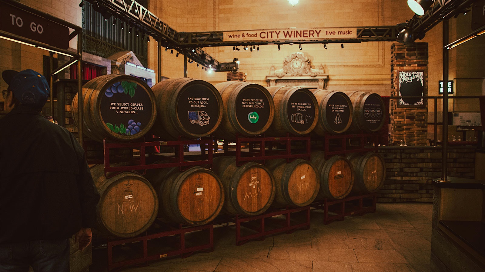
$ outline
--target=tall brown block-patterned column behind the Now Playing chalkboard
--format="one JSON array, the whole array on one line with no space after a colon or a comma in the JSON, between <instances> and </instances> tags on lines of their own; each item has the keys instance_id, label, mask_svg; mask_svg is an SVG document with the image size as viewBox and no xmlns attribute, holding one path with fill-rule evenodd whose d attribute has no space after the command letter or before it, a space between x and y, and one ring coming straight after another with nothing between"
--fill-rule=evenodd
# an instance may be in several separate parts
<instances>
[{"instance_id":1,"label":"tall brown block-patterned column behind the Now Playing chalkboard","mask_svg":"<svg viewBox=\"0 0 485 272\"><path fill-rule=\"evenodd\" d=\"M391 96L399 96L399 71L424 71L423 96L428 95L428 44L415 43L391 45ZM391 99L390 144L428 145L428 101L422 106L398 107L399 99Z\"/></svg>"}]
</instances>

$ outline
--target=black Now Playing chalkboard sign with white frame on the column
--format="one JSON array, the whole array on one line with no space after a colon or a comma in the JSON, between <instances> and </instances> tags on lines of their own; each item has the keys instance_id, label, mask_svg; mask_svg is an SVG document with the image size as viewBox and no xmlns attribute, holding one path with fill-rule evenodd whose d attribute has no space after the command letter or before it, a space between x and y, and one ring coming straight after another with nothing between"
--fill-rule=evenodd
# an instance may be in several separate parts
<instances>
[{"instance_id":1,"label":"black Now Playing chalkboard sign with white frame on the column","mask_svg":"<svg viewBox=\"0 0 485 272\"><path fill-rule=\"evenodd\" d=\"M398 88L399 106L423 106L423 71L399 71Z\"/></svg>"}]
</instances>

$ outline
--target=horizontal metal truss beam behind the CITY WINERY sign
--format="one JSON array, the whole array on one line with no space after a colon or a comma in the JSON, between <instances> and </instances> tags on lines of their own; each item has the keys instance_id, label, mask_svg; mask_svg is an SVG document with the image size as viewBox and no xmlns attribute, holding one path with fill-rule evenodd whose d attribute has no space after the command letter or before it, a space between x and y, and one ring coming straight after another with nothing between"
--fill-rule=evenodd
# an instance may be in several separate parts
<instances>
[{"instance_id":1,"label":"horizontal metal truss beam behind the CITY WINERY sign","mask_svg":"<svg viewBox=\"0 0 485 272\"><path fill-rule=\"evenodd\" d=\"M207 46L239 46L239 45L283 45L283 44L331 44L331 43L360 43L395 41L399 31L404 26L371 26L356 27L357 37L350 39L319 39L319 40L278 40L278 41L235 41L225 42L223 31L207 32L178 32L178 45L181 47L207 47ZM240 31L240 30L238 30ZM242 31L242 30L241 30ZM251 30L255 31L255 30ZM258 31L258 30L256 30ZM231 31L228 31L231 32Z\"/></svg>"}]
</instances>

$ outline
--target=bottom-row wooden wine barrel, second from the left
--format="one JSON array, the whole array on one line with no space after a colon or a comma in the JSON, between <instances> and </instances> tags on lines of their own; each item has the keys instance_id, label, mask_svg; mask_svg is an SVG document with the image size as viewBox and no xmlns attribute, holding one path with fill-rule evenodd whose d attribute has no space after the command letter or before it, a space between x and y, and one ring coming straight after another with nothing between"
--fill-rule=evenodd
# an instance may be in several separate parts
<instances>
[{"instance_id":1,"label":"bottom-row wooden wine barrel, second from the left","mask_svg":"<svg viewBox=\"0 0 485 272\"><path fill-rule=\"evenodd\" d=\"M210 169L201 166L183 172L178 167L150 169L145 177L158 192L159 216L166 221L205 225L221 212L224 189Z\"/></svg>"}]
</instances>

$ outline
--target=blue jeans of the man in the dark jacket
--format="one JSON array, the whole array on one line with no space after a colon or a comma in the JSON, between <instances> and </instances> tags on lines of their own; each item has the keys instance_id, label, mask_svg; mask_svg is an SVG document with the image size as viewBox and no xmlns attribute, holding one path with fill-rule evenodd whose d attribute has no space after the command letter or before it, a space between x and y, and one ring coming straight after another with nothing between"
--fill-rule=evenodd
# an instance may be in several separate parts
<instances>
[{"instance_id":1,"label":"blue jeans of the man in the dark jacket","mask_svg":"<svg viewBox=\"0 0 485 272\"><path fill-rule=\"evenodd\" d=\"M69 239L0 245L0 272L69 272Z\"/></svg>"}]
</instances>

